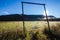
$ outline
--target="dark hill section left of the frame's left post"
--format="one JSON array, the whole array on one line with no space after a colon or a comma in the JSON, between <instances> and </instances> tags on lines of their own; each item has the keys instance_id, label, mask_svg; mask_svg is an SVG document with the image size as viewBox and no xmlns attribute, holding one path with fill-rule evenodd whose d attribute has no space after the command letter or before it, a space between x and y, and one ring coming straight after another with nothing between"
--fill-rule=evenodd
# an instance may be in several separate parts
<instances>
[{"instance_id":1,"label":"dark hill section left of the frame's left post","mask_svg":"<svg viewBox=\"0 0 60 40\"><path fill-rule=\"evenodd\" d=\"M0 16L0 21L19 21L19 20L22 20L22 16L18 14Z\"/></svg>"}]
</instances>

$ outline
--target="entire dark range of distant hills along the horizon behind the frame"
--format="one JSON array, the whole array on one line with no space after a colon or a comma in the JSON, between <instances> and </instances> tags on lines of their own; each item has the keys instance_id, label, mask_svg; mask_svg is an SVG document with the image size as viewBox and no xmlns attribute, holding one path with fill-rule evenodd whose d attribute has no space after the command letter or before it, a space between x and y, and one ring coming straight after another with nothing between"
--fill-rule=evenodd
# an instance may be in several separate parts
<instances>
[{"instance_id":1,"label":"entire dark range of distant hills along the horizon behind the frame","mask_svg":"<svg viewBox=\"0 0 60 40\"><path fill-rule=\"evenodd\" d=\"M24 15L25 21L46 21L44 15ZM54 16L48 16L50 21L60 21L60 18L55 18ZM22 14L11 14L11 15L2 15L0 16L0 21L22 21L23 16Z\"/></svg>"}]
</instances>

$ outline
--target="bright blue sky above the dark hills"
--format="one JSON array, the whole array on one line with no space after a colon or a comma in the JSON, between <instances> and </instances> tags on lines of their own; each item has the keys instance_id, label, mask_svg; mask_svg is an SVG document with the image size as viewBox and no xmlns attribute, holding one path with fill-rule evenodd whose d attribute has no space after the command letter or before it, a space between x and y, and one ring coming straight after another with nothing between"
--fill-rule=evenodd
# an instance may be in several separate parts
<instances>
[{"instance_id":1,"label":"bright blue sky above the dark hills","mask_svg":"<svg viewBox=\"0 0 60 40\"><path fill-rule=\"evenodd\" d=\"M22 14L22 1L46 4L48 15L60 17L60 0L0 0L0 15ZM24 4L24 14L45 15L44 7L42 5Z\"/></svg>"}]
</instances>

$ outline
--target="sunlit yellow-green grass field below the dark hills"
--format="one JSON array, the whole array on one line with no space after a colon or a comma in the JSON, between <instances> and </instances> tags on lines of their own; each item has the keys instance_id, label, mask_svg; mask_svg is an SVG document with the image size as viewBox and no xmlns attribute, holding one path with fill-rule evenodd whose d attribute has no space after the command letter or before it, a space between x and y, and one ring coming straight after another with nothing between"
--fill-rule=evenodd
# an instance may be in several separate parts
<instances>
[{"instance_id":1,"label":"sunlit yellow-green grass field below the dark hills","mask_svg":"<svg viewBox=\"0 0 60 40\"><path fill-rule=\"evenodd\" d=\"M60 33L60 22L50 21L51 35L57 37ZM46 21L25 21L25 40L59 40L50 38ZM0 40L23 40L22 21L0 22Z\"/></svg>"}]
</instances>

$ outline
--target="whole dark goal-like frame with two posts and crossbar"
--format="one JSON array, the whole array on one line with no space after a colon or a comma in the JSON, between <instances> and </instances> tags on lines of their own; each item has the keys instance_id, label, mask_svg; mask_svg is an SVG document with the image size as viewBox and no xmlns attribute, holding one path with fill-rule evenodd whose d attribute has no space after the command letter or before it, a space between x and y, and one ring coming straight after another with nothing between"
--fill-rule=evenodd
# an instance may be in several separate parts
<instances>
[{"instance_id":1,"label":"whole dark goal-like frame with two posts and crossbar","mask_svg":"<svg viewBox=\"0 0 60 40\"><path fill-rule=\"evenodd\" d=\"M41 3L33 3L33 2L21 2L21 5L22 5L22 16L23 16L23 32L25 34L25 23L24 23L24 5L23 4L33 4L33 5L42 5L43 8L44 8L44 12L45 12L45 15L46 15L46 21L47 21L47 26L48 26L48 29L49 29L49 32L50 32L50 25L49 25L49 20L48 20L48 16L47 16L47 11L46 11L46 4L41 4Z\"/></svg>"}]
</instances>

